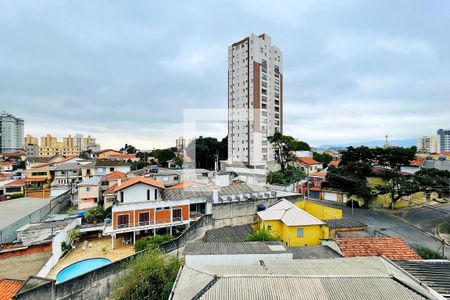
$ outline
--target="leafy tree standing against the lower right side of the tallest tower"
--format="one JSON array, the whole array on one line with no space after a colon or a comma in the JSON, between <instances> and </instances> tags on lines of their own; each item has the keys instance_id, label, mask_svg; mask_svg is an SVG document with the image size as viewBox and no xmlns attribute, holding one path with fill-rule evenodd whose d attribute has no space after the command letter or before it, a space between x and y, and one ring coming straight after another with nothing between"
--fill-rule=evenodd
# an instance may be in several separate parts
<instances>
[{"instance_id":1,"label":"leafy tree standing against the lower right side of the tallest tower","mask_svg":"<svg viewBox=\"0 0 450 300\"><path fill-rule=\"evenodd\" d=\"M301 142L289 135L275 132L268 136L267 140L272 144L275 161L280 164L281 172L286 174L290 162L295 160L294 151L310 150L307 143Z\"/></svg>"}]
</instances>

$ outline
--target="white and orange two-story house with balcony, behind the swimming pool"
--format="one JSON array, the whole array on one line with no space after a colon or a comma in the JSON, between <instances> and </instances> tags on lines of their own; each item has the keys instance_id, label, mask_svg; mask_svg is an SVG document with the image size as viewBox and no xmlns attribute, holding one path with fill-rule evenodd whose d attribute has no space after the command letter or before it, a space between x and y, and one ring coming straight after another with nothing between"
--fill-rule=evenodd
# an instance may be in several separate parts
<instances>
[{"instance_id":1,"label":"white and orange two-story house with balcony, behind the swimming pool","mask_svg":"<svg viewBox=\"0 0 450 300\"><path fill-rule=\"evenodd\" d=\"M111 235L113 248L158 231L172 233L174 228L189 225L189 200L165 199L164 191L162 183L142 176L118 182L112 191L116 197L112 224L104 232Z\"/></svg>"}]
</instances>

